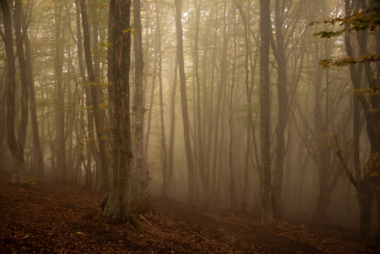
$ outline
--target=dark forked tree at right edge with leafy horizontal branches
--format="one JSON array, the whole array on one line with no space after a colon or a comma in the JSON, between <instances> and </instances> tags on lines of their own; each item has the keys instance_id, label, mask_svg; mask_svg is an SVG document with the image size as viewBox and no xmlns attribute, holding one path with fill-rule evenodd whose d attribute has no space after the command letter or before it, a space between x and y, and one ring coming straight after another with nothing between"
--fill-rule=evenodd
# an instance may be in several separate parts
<instances>
[{"instance_id":1,"label":"dark forked tree at right edge with leafy horizontal branches","mask_svg":"<svg viewBox=\"0 0 380 254\"><path fill-rule=\"evenodd\" d=\"M354 134L354 170L355 178L350 169L345 163L342 155L341 147L338 145L338 138L335 137L336 142L336 155L340 159L345 173L350 180L350 183L355 186L357 191L357 198L359 200L360 208L360 233L364 236L369 236L371 232L372 223L372 198L376 191L379 191L379 165L380 165L380 95L376 93L379 87L379 80L374 79L372 73L371 62L377 61L376 55L380 51L380 37L376 35L376 54L370 55L367 50L367 30L374 30L378 23L372 23L371 18L376 20L379 16L379 9L376 3L372 3L375 8L371 9L366 6L365 1L350 1L345 0L345 17L335 18L331 20L324 20L325 23L341 23L344 25L343 30L338 32L319 32L316 35L321 37L338 36L344 33L345 37L345 51L348 57L332 60L326 59L321 61L321 65L325 68L329 66L349 66L350 79L355 89L353 97L354 104L354 117L353 117L353 134ZM362 10L362 12L359 12ZM367 13L374 13L374 16L367 15ZM311 23L310 25L313 25ZM355 59L354 49L351 42L350 34L356 31L357 43L359 45L360 57ZM363 66L356 66L356 63L362 63ZM362 67L364 67L364 75L368 88L362 87ZM377 75L380 73L379 63L376 63ZM364 91L364 94L363 94ZM367 96L369 99L367 99ZM370 156L364 166L363 173L360 169L360 108L362 107L364 117L367 123L367 136L370 144ZM379 200L380 201L380 200ZM379 202L378 202L379 210ZM379 213L379 212L378 212Z\"/></svg>"}]
</instances>

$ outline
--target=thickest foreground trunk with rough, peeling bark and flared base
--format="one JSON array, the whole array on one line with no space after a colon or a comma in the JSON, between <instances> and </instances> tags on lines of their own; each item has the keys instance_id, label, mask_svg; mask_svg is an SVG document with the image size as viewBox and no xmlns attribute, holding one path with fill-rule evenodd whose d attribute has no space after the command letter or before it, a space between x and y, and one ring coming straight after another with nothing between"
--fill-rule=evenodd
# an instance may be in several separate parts
<instances>
[{"instance_id":1,"label":"thickest foreground trunk with rough, peeling bark and flared base","mask_svg":"<svg viewBox=\"0 0 380 254\"><path fill-rule=\"evenodd\" d=\"M111 186L103 214L114 224L131 222L130 210L130 1L109 4L109 86L112 107Z\"/></svg>"}]
</instances>

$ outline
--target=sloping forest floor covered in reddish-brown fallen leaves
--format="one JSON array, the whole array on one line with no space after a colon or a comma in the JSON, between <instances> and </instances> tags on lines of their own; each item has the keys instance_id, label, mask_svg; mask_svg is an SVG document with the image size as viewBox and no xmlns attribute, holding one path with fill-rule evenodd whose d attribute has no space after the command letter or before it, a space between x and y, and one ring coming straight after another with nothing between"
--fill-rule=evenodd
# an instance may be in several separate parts
<instances>
[{"instance_id":1,"label":"sloping forest floor covered in reddish-brown fallen leaves","mask_svg":"<svg viewBox=\"0 0 380 254\"><path fill-rule=\"evenodd\" d=\"M0 253L379 253L380 243L336 226L279 221L152 198L138 227L113 225L102 197L78 186L0 181Z\"/></svg>"}]
</instances>

